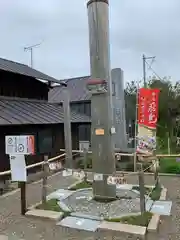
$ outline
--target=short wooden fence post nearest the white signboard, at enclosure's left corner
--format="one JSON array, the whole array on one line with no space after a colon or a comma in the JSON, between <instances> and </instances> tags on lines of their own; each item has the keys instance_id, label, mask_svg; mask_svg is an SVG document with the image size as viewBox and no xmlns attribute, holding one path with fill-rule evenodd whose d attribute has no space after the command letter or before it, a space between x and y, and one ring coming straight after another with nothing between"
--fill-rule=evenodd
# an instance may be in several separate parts
<instances>
[{"instance_id":1,"label":"short wooden fence post nearest the white signboard, at enclosure's left corner","mask_svg":"<svg viewBox=\"0 0 180 240\"><path fill-rule=\"evenodd\" d=\"M46 204L47 197L47 177L48 177L48 156L44 156L44 164L43 164L43 182L42 182L42 204Z\"/></svg>"}]
</instances>

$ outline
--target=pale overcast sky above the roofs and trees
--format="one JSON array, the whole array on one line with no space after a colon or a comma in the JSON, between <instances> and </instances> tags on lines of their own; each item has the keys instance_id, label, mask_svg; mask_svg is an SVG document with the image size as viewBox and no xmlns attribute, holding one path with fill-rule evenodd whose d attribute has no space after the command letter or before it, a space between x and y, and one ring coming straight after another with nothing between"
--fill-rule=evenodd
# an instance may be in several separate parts
<instances>
[{"instance_id":1,"label":"pale overcast sky above the roofs and trees","mask_svg":"<svg viewBox=\"0 0 180 240\"><path fill-rule=\"evenodd\" d=\"M86 0L0 0L0 57L58 79L89 74ZM142 54L160 76L180 80L180 0L110 0L111 67L142 77ZM148 75L152 72L148 70Z\"/></svg>"}]
</instances>

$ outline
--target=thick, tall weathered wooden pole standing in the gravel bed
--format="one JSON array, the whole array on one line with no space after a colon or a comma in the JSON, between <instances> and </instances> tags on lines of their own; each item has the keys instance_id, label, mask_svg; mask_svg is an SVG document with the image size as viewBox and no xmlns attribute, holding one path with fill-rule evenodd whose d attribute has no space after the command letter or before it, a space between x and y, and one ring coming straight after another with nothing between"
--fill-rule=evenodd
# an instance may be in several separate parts
<instances>
[{"instance_id":1,"label":"thick, tall weathered wooden pole standing in the gravel bed","mask_svg":"<svg viewBox=\"0 0 180 240\"><path fill-rule=\"evenodd\" d=\"M92 94L91 147L93 194L96 199L116 198L116 186L107 184L108 175L116 172L108 4L108 0L90 0L87 3L91 69L87 87Z\"/></svg>"}]
</instances>

